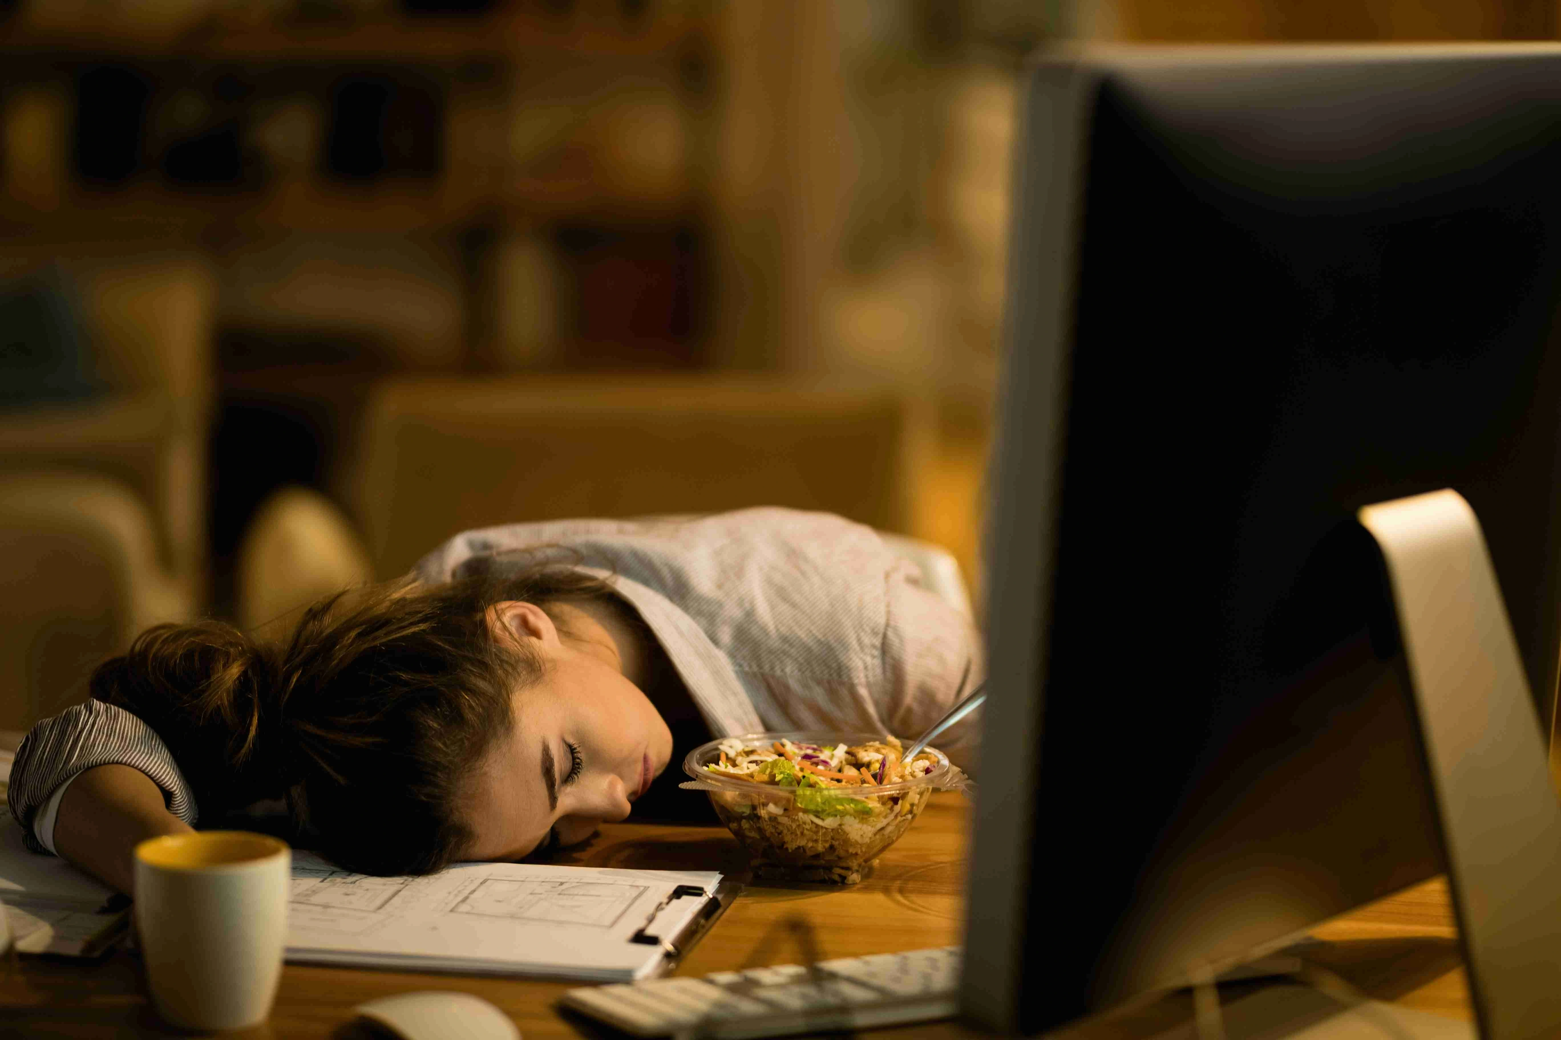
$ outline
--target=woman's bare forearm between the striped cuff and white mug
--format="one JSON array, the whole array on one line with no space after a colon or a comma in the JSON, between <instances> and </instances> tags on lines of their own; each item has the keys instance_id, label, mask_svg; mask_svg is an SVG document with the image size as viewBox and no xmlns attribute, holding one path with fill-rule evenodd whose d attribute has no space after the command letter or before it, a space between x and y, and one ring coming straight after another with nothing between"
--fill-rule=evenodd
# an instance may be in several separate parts
<instances>
[{"instance_id":1,"label":"woman's bare forearm between the striped cuff and white mug","mask_svg":"<svg viewBox=\"0 0 1561 1040\"><path fill-rule=\"evenodd\" d=\"M133 895L136 845L183 834L189 823L169 812L162 789L139 769L95 766L80 773L55 817L55 851L105 884Z\"/></svg>"}]
</instances>

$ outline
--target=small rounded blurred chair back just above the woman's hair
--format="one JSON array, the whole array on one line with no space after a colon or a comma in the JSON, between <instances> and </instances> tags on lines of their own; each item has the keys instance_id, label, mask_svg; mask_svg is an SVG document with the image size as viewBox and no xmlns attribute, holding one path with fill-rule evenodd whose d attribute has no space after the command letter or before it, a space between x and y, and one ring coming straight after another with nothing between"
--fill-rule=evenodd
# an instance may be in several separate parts
<instances>
[{"instance_id":1,"label":"small rounded blurred chair back just above the woman's hair","mask_svg":"<svg viewBox=\"0 0 1561 1040\"><path fill-rule=\"evenodd\" d=\"M309 488L283 488L250 521L237 577L239 625L284 638L304 607L373 580L373 568L336 504Z\"/></svg>"}]
</instances>

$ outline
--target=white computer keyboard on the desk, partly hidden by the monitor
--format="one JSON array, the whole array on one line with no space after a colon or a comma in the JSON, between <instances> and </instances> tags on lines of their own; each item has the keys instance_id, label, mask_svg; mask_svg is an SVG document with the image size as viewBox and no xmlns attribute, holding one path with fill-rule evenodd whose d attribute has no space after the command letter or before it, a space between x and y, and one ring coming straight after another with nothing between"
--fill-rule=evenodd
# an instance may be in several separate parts
<instances>
[{"instance_id":1,"label":"white computer keyboard on the desk, partly hidden by the monitor","mask_svg":"<svg viewBox=\"0 0 1561 1040\"><path fill-rule=\"evenodd\" d=\"M638 1037L746 1040L930 1021L958 1006L960 948L570 990L564 1006Z\"/></svg>"}]
</instances>

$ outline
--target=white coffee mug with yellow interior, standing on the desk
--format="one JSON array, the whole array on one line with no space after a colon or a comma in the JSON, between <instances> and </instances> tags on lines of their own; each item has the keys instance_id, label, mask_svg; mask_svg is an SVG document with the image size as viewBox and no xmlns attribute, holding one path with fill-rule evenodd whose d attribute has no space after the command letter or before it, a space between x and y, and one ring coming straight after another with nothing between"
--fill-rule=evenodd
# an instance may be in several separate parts
<instances>
[{"instance_id":1,"label":"white coffee mug with yellow interior, standing on the desk","mask_svg":"<svg viewBox=\"0 0 1561 1040\"><path fill-rule=\"evenodd\" d=\"M136 929L158 1012L186 1029L242 1029L276 998L292 850L247 831L136 845Z\"/></svg>"}]
</instances>

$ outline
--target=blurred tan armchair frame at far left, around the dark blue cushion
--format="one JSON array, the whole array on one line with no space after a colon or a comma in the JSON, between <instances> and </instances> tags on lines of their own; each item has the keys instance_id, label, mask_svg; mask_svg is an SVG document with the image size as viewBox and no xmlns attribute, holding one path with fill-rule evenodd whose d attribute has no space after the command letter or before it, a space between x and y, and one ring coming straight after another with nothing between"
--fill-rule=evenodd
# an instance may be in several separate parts
<instances>
[{"instance_id":1,"label":"blurred tan armchair frame at far left, around the dark blue cushion","mask_svg":"<svg viewBox=\"0 0 1561 1040\"><path fill-rule=\"evenodd\" d=\"M50 259L0 253L0 278ZM186 254L72 260L66 273L100 391L0 410L0 474L75 469L119 480L151 518L162 569L198 597L215 278Z\"/></svg>"}]
</instances>

